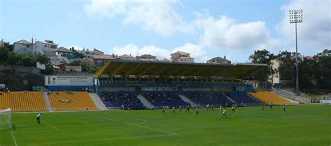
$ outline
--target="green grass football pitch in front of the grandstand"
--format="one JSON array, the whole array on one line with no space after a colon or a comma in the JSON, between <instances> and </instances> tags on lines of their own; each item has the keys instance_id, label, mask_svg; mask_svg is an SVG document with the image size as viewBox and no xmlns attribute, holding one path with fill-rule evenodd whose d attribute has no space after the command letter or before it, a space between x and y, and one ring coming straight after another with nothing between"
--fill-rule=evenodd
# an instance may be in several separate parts
<instances>
[{"instance_id":1,"label":"green grass football pitch in front of the grandstand","mask_svg":"<svg viewBox=\"0 0 331 146\"><path fill-rule=\"evenodd\" d=\"M300 105L161 111L13 113L15 130L0 131L0 145L331 145L331 106ZM13 133L13 134L12 134Z\"/></svg>"}]
</instances>

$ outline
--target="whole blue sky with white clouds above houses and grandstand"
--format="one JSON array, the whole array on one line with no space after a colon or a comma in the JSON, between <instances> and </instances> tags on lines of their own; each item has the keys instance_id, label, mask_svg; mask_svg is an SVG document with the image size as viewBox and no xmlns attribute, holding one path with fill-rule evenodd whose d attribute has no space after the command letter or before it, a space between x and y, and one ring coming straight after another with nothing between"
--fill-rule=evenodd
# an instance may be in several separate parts
<instances>
[{"instance_id":1,"label":"whole blue sky with white clouds above houses and grandstand","mask_svg":"<svg viewBox=\"0 0 331 146\"><path fill-rule=\"evenodd\" d=\"M298 50L331 49L331 0L0 0L0 39L53 40L59 47L105 54L170 58L186 51L196 63L226 56L249 62L256 49L295 51L288 10L303 10Z\"/></svg>"}]
</instances>

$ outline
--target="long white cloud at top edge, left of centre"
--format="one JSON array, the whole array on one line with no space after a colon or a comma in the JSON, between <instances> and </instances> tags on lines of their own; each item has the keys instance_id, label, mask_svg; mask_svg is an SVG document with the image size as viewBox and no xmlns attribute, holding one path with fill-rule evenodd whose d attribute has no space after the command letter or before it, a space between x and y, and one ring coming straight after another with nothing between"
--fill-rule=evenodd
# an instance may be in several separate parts
<instances>
[{"instance_id":1,"label":"long white cloud at top edge, left of centre","mask_svg":"<svg viewBox=\"0 0 331 146\"><path fill-rule=\"evenodd\" d=\"M84 5L89 15L114 17L124 15L124 24L138 24L147 31L154 31L161 35L172 35L177 32L189 33L192 28L172 8L179 3L172 1L154 0L92 0Z\"/></svg>"}]
</instances>

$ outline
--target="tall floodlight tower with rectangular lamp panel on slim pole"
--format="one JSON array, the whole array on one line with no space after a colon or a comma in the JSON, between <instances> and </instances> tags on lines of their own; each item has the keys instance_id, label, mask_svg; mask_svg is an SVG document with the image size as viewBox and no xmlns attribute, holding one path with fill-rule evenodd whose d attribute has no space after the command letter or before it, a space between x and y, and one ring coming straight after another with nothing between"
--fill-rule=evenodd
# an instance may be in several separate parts
<instances>
[{"instance_id":1,"label":"tall floodlight tower with rectangular lamp panel on slim pole","mask_svg":"<svg viewBox=\"0 0 331 146\"><path fill-rule=\"evenodd\" d=\"M297 23L302 23L302 10L289 10L290 14L290 24L295 24L295 67L297 70L296 77L296 93L300 95L299 92L299 67L297 66Z\"/></svg>"}]
</instances>

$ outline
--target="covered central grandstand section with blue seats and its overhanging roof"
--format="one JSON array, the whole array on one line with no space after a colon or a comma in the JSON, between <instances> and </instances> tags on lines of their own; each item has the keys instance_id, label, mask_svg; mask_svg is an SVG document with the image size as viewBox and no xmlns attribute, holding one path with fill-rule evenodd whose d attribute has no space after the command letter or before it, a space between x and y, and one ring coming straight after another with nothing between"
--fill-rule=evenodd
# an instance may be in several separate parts
<instances>
[{"instance_id":1,"label":"covered central grandstand section with blue seats and its overhanging roof","mask_svg":"<svg viewBox=\"0 0 331 146\"><path fill-rule=\"evenodd\" d=\"M263 67L112 60L94 74L94 90L108 108L256 106L262 101L247 94L254 89L244 80Z\"/></svg>"}]
</instances>

